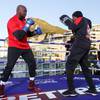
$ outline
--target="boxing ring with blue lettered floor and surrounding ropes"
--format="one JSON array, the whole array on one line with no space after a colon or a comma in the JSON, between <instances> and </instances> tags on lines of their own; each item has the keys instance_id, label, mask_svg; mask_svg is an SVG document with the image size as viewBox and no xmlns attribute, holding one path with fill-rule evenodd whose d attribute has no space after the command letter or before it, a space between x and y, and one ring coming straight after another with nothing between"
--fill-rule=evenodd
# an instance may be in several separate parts
<instances>
[{"instance_id":1,"label":"boxing ring with blue lettered floor and surrounding ropes","mask_svg":"<svg viewBox=\"0 0 100 100\"><path fill-rule=\"evenodd\" d=\"M94 42L100 42L94 41ZM29 42L29 43L35 43L35 44L48 44L48 43L42 43L42 42ZM48 45L63 45L64 43L49 43ZM90 52L97 52L97 50L91 50ZM1 52L7 52L7 49L1 50ZM51 51L51 50L33 50L33 52L37 53L64 53L66 54L66 51ZM6 55L6 53L5 53ZM85 81L84 76L80 73L81 67L78 66L75 70L75 86L76 91L79 94L77 97L64 97L62 95L62 92L66 90L67 84L66 84L66 75L65 72L65 62L66 60L52 60L51 56L49 57L49 60L39 60L41 58L40 56L35 56L36 63L37 63L37 70L38 73L36 76L36 84L39 88L41 88L40 93L33 93L27 89L28 86L28 70L27 65L22 59L19 59L15 65L16 67L19 67L18 69L14 69L12 71L12 75L9 79L9 81L6 84L5 94L6 97L2 98L1 100L100 100L100 93L98 93L97 96L87 95L85 94L85 91L87 90L87 84ZM44 57L45 58L45 57ZM91 63L95 63L98 60L90 60ZM4 66L6 64L6 58L0 59L0 74L2 74L2 71L4 69ZM40 68L42 66L42 68ZM49 67L47 67L49 66ZM52 67L50 67L52 66ZM22 70L20 70L20 68ZM51 68L51 69L50 69ZM99 68L96 68L92 66L90 68L93 74L93 80L96 84L96 89L98 92L100 92L100 76L94 75L96 71L100 71ZM18 76L19 74L19 76Z\"/></svg>"}]
</instances>

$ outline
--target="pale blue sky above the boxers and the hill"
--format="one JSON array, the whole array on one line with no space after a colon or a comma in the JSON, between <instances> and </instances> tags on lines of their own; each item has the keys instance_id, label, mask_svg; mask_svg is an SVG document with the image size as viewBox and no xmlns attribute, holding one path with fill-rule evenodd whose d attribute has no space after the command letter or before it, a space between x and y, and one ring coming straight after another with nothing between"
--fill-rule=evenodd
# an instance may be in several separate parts
<instances>
[{"instance_id":1,"label":"pale blue sky above the boxers and the hill","mask_svg":"<svg viewBox=\"0 0 100 100\"><path fill-rule=\"evenodd\" d=\"M100 24L100 0L0 0L0 39L8 36L7 22L15 15L18 5L25 5L27 17L40 18L52 25L66 29L59 17L80 10L92 20L93 25Z\"/></svg>"}]
</instances>

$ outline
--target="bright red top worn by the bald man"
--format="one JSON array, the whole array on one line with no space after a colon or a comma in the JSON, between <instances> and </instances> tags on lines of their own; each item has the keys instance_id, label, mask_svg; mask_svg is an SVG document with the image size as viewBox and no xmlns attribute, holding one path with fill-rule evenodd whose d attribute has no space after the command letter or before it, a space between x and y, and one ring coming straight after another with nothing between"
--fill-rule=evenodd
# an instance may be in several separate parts
<instances>
[{"instance_id":1,"label":"bright red top worn by the bald man","mask_svg":"<svg viewBox=\"0 0 100 100\"><path fill-rule=\"evenodd\" d=\"M27 42L27 36L25 36L21 41L16 39L13 35L13 32L16 30L21 30L25 25L25 19L20 20L17 15L13 16L7 24L8 29L8 46L16 47L19 49L30 49L30 46Z\"/></svg>"}]
</instances>

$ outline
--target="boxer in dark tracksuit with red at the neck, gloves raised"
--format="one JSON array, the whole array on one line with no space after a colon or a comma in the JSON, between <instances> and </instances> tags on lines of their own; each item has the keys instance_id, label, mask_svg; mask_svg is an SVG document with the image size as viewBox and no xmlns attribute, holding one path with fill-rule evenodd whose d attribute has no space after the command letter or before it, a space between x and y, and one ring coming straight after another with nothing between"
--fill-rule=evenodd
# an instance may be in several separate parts
<instances>
[{"instance_id":1,"label":"boxer in dark tracksuit with red at the neck, gloves raised","mask_svg":"<svg viewBox=\"0 0 100 100\"><path fill-rule=\"evenodd\" d=\"M96 89L92 81L91 73L88 68L88 53L90 50L90 29L91 21L85 17L81 11L75 11L72 14L72 19L67 15L62 15L60 20L63 24L68 26L72 30L72 33L75 36L74 43L70 50L70 55L68 56L66 62L66 73L67 73L67 83L68 90L63 92L64 96L76 96L74 82L73 82L73 73L77 64L81 65L83 74L88 83L89 89L86 93L96 94Z\"/></svg>"}]
</instances>

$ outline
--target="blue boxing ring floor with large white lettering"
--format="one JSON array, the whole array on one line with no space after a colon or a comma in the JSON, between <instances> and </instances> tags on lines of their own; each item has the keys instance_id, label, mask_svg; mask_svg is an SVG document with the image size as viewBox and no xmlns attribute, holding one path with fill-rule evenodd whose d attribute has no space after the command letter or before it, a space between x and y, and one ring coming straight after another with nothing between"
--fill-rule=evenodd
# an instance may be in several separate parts
<instances>
[{"instance_id":1,"label":"blue boxing ring floor with large white lettering","mask_svg":"<svg viewBox=\"0 0 100 100\"><path fill-rule=\"evenodd\" d=\"M83 75L75 75L74 81L76 97L65 97L62 92L66 90L66 76L41 76L36 77L36 84L41 88L40 93L33 93L27 89L28 78L14 78L8 81L5 88L7 97L0 100L100 100L100 76L93 76L98 95L92 96L85 94L87 83Z\"/></svg>"}]
</instances>

